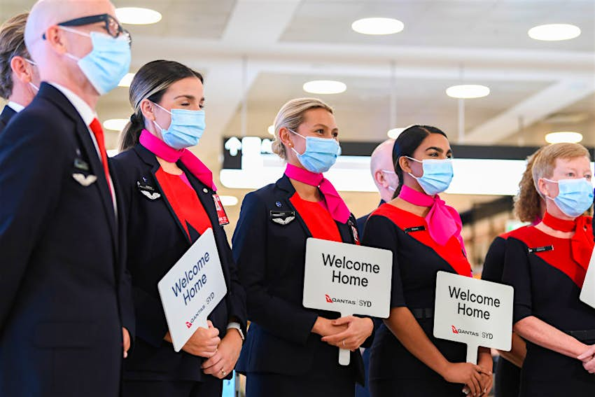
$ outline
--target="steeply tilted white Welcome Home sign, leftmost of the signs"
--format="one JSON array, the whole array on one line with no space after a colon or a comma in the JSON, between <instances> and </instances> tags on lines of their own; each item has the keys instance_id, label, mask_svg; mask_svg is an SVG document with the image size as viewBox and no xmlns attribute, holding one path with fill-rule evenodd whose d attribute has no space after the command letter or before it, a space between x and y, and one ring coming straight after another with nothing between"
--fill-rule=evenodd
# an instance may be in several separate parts
<instances>
[{"instance_id":1,"label":"steeply tilted white Welcome Home sign, leftmost of the signs","mask_svg":"<svg viewBox=\"0 0 595 397\"><path fill-rule=\"evenodd\" d=\"M174 350L180 351L228 288L213 229L207 229L157 284Z\"/></svg>"}]
</instances>

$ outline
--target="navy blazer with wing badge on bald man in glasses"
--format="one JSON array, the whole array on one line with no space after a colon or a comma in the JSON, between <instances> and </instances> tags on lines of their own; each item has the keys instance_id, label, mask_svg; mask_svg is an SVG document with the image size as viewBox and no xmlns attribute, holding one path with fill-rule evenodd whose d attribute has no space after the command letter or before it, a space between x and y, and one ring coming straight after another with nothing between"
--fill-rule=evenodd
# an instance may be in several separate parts
<instances>
[{"instance_id":1,"label":"navy blazer with wing badge on bald man in glasses","mask_svg":"<svg viewBox=\"0 0 595 397\"><path fill-rule=\"evenodd\" d=\"M52 85L0 134L0 186L0 395L117 396L122 327L134 333L124 226L87 126Z\"/></svg>"}]
</instances>

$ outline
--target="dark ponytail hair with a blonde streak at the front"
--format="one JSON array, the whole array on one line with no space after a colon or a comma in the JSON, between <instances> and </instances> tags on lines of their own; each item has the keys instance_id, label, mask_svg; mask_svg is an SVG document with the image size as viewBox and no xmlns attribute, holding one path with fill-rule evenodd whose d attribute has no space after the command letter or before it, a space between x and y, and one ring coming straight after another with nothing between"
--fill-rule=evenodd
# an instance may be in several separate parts
<instances>
[{"instance_id":1,"label":"dark ponytail hair with a blonde streak at the front","mask_svg":"<svg viewBox=\"0 0 595 397\"><path fill-rule=\"evenodd\" d=\"M141 111L141 102L144 99L158 104L170 85L183 78L196 77L204 83L202 74L184 66L179 62L158 60L145 64L132 78L128 99L134 113L130 122L120 133L120 152L132 148L139 142L141 132L145 128L145 118Z\"/></svg>"}]
</instances>

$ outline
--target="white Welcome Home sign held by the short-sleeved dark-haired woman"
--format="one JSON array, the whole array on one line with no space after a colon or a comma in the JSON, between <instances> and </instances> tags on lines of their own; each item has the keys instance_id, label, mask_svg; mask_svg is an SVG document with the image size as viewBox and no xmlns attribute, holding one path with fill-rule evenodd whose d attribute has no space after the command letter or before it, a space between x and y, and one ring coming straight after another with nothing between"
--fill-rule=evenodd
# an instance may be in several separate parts
<instances>
[{"instance_id":1,"label":"white Welcome Home sign held by the short-sleeved dark-haired woman","mask_svg":"<svg viewBox=\"0 0 595 397\"><path fill-rule=\"evenodd\" d=\"M438 272L434 336L467 344L467 362L477 347L509 351L512 343L512 286Z\"/></svg>"}]
</instances>

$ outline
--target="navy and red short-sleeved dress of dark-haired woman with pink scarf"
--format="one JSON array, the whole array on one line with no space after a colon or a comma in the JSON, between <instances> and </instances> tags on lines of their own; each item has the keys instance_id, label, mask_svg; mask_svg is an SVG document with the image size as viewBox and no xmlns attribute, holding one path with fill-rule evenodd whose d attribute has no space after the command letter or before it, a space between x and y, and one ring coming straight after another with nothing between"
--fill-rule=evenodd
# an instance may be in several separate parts
<instances>
[{"instance_id":1,"label":"navy and red short-sleeved dress of dark-haired woman with pink scarf","mask_svg":"<svg viewBox=\"0 0 595 397\"><path fill-rule=\"evenodd\" d=\"M451 362L464 363L466 347L433 336L433 308L438 271L470 275L461 243L452 236L440 246L428 232L426 219L391 204L368 218L363 244L393 251L391 307L408 307L430 341ZM446 382L419 361L383 323L372 345L370 391L373 397L461 397L463 385Z\"/></svg>"}]
</instances>

